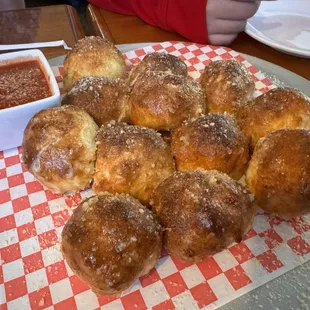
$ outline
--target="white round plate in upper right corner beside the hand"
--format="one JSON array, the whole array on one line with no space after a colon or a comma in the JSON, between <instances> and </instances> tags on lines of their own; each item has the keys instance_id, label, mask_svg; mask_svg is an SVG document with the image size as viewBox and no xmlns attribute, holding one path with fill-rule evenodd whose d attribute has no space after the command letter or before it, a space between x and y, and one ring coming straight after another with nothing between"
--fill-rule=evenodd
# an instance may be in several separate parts
<instances>
[{"instance_id":1,"label":"white round plate in upper right corner beside the hand","mask_svg":"<svg viewBox=\"0 0 310 310\"><path fill-rule=\"evenodd\" d=\"M277 50L310 58L310 0L263 1L245 31Z\"/></svg>"}]
</instances>

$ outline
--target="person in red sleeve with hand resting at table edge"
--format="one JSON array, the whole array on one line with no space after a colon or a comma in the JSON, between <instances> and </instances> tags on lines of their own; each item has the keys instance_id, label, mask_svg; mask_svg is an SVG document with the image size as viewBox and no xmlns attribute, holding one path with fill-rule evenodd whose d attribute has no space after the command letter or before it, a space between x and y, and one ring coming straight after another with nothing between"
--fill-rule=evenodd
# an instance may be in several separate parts
<instances>
[{"instance_id":1,"label":"person in red sleeve with hand resting at table edge","mask_svg":"<svg viewBox=\"0 0 310 310\"><path fill-rule=\"evenodd\" d=\"M196 43L228 45L245 29L257 0L89 0L107 10L137 15Z\"/></svg>"}]
</instances>

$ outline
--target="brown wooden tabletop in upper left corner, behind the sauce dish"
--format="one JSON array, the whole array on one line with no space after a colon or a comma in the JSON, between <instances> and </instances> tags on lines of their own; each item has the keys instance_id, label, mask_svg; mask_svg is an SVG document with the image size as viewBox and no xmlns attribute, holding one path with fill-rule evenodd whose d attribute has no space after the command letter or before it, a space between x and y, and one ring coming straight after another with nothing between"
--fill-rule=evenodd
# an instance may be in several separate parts
<instances>
[{"instance_id":1,"label":"brown wooden tabletop in upper left corner, behind the sauce dish","mask_svg":"<svg viewBox=\"0 0 310 310\"><path fill-rule=\"evenodd\" d=\"M68 5L0 12L0 44L65 40L72 47L84 36L76 10ZM66 53L63 47L41 50L47 58Z\"/></svg>"}]
</instances>

